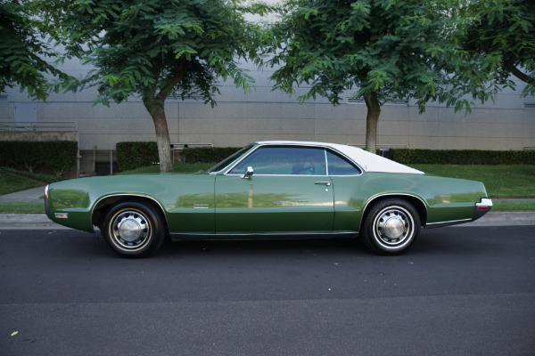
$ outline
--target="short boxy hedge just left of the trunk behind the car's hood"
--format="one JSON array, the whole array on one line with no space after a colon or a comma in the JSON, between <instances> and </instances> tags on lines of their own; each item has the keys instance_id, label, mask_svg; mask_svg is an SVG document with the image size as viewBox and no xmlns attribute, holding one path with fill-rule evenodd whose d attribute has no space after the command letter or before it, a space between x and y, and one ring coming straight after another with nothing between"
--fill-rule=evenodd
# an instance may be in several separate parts
<instances>
[{"instance_id":1,"label":"short boxy hedge just left of the trunk behind the car's hood","mask_svg":"<svg viewBox=\"0 0 535 356\"><path fill-rule=\"evenodd\" d=\"M115 147L119 172L160 162L156 142L118 142Z\"/></svg>"}]
</instances>

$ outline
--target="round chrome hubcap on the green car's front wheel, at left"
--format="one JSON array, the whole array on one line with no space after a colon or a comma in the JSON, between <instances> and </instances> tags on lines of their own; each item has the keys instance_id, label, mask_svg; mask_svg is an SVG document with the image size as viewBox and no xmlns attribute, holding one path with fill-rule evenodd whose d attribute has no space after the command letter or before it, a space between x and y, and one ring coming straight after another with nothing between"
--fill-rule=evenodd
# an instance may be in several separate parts
<instances>
[{"instance_id":1,"label":"round chrome hubcap on the green car's front wheel, at left","mask_svg":"<svg viewBox=\"0 0 535 356\"><path fill-rule=\"evenodd\" d=\"M143 246L150 237L150 227L143 214L127 210L115 217L111 224L111 232L120 247L136 249Z\"/></svg>"}]
</instances>

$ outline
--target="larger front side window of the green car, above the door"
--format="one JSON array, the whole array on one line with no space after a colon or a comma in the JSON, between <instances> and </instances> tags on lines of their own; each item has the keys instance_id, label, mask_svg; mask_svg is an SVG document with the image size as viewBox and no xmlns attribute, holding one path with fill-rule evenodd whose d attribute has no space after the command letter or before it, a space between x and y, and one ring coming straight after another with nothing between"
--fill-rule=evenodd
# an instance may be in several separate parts
<instances>
[{"instance_id":1,"label":"larger front side window of the green car, above the door","mask_svg":"<svg viewBox=\"0 0 535 356\"><path fill-rule=\"evenodd\" d=\"M306 147L261 147L228 174L325 175L325 150Z\"/></svg>"}]
</instances>

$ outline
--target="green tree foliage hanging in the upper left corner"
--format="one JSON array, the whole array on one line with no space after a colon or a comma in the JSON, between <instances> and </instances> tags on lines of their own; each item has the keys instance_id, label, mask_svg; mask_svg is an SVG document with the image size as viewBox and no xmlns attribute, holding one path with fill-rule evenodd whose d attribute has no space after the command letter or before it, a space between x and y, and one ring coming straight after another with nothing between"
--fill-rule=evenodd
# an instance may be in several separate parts
<instances>
[{"instance_id":1,"label":"green tree foliage hanging in the upper left corner","mask_svg":"<svg viewBox=\"0 0 535 356\"><path fill-rule=\"evenodd\" d=\"M36 11L28 0L0 2L0 92L21 85L29 97L45 100L53 88L53 77L63 81L69 77L46 61L56 53L45 42Z\"/></svg>"}]
</instances>

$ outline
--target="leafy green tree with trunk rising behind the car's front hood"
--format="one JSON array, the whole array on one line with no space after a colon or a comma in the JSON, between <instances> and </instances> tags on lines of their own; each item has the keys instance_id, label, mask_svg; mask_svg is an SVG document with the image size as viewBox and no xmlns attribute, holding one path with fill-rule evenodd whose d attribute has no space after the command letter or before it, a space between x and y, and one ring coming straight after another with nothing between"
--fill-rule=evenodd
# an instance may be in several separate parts
<instances>
[{"instance_id":1,"label":"leafy green tree with trunk rising behind the car's front hood","mask_svg":"<svg viewBox=\"0 0 535 356\"><path fill-rule=\"evenodd\" d=\"M244 11L237 0L77 0L56 21L70 39L67 53L95 67L80 87L96 85L103 104L141 97L161 172L172 172L166 98L201 94L213 106L219 78L251 85L236 64L258 44Z\"/></svg>"}]
</instances>

